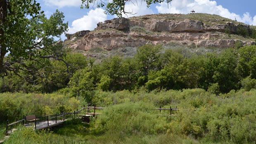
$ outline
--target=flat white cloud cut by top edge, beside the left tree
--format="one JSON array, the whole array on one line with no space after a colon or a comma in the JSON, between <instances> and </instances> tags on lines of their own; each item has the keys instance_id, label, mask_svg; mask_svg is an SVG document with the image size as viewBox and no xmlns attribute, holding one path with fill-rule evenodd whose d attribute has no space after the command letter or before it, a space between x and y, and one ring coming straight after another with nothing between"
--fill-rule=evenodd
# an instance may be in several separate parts
<instances>
[{"instance_id":1,"label":"flat white cloud cut by top edge, beside the left tree","mask_svg":"<svg viewBox=\"0 0 256 144\"><path fill-rule=\"evenodd\" d=\"M61 7L79 7L82 4L81 0L43 0L48 6Z\"/></svg>"}]
</instances>

